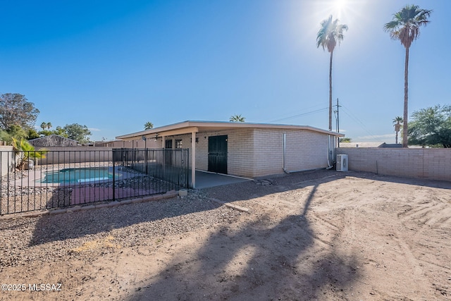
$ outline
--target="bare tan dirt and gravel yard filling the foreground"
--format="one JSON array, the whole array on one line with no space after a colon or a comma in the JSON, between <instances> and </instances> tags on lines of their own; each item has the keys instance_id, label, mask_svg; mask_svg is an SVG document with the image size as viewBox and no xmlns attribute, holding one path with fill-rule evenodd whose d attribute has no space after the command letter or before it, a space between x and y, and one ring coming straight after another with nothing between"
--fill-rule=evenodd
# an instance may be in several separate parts
<instances>
[{"instance_id":1,"label":"bare tan dirt and gravel yard filling the foreground","mask_svg":"<svg viewBox=\"0 0 451 301\"><path fill-rule=\"evenodd\" d=\"M0 299L451 300L449 182L314 171L157 202L1 220L0 282L26 289ZM149 207L173 214L133 220Z\"/></svg>"}]
</instances>

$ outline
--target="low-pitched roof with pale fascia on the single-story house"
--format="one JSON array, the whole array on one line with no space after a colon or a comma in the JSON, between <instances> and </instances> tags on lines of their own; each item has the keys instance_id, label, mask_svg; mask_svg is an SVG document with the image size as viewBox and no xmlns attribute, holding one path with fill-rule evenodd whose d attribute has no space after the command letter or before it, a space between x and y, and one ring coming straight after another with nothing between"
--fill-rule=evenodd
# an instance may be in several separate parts
<instances>
[{"instance_id":1,"label":"low-pitched roof with pale fascia on the single-story house","mask_svg":"<svg viewBox=\"0 0 451 301\"><path fill-rule=\"evenodd\" d=\"M164 125L159 128L151 128L149 130L141 130L140 132L117 136L118 140L136 140L144 137L161 137L182 135L188 133L208 132L212 130L229 130L237 128L270 128L280 130L310 130L312 132L322 133L326 135L333 135L344 137L345 135L323 130L321 128L314 128L308 125L286 125L273 123L242 123L242 122L228 122L228 121L183 121L180 123L173 123Z\"/></svg>"}]
</instances>

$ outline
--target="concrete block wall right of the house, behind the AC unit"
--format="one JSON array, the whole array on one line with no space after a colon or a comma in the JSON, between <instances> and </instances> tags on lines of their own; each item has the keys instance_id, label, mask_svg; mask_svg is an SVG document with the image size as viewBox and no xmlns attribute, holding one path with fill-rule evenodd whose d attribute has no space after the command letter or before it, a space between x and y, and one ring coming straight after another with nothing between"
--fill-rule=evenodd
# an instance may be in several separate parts
<instances>
[{"instance_id":1,"label":"concrete block wall right of the house, behind the AC unit","mask_svg":"<svg viewBox=\"0 0 451 301\"><path fill-rule=\"evenodd\" d=\"M352 171L387 176L451 180L451 149L338 148Z\"/></svg>"}]
</instances>

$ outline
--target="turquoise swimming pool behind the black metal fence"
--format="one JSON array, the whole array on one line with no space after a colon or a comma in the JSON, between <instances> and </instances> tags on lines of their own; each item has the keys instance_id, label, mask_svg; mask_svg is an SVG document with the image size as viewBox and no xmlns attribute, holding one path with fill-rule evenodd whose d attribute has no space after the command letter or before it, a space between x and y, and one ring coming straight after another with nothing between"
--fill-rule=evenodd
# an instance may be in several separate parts
<instances>
[{"instance_id":1,"label":"turquoise swimming pool behind the black metal fence","mask_svg":"<svg viewBox=\"0 0 451 301\"><path fill-rule=\"evenodd\" d=\"M118 178L121 174L115 176ZM113 180L113 167L63 168L47 172L39 183L77 184L105 180Z\"/></svg>"}]
</instances>

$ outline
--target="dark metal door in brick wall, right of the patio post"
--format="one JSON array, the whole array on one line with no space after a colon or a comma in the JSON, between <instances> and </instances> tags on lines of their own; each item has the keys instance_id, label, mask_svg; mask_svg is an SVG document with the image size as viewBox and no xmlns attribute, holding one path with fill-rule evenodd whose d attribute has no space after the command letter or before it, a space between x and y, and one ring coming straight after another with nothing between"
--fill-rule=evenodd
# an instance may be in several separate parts
<instances>
[{"instance_id":1,"label":"dark metal door in brick wall, right of the patio post","mask_svg":"<svg viewBox=\"0 0 451 301\"><path fill-rule=\"evenodd\" d=\"M227 174L227 135L209 137L209 171Z\"/></svg>"}]
</instances>

